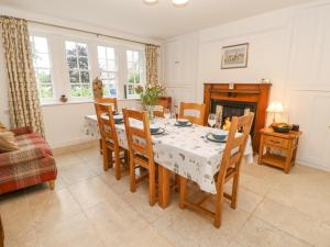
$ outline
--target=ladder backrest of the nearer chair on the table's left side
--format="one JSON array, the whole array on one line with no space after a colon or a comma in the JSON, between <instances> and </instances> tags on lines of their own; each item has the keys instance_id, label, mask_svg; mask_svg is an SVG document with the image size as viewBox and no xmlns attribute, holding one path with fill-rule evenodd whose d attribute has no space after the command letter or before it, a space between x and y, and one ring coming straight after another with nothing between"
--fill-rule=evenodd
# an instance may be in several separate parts
<instances>
[{"instance_id":1,"label":"ladder backrest of the nearer chair on the table's left side","mask_svg":"<svg viewBox=\"0 0 330 247\"><path fill-rule=\"evenodd\" d=\"M123 116L131 157L138 153L153 161L153 144L147 113L144 111L123 109ZM131 120L141 122L141 126L132 126Z\"/></svg>"}]
</instances>

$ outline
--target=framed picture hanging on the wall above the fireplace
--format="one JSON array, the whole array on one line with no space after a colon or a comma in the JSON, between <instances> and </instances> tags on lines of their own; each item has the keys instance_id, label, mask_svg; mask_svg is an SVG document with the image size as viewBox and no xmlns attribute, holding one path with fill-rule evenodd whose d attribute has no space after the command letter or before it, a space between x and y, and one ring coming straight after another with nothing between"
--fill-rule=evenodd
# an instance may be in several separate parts
<instances>
[{"instance_id":1,"label":"framed picture hanging on the wall above the fireplace","mask_svg":"<svg viewBox=\"0 0 330 247\"><path fill-rule=\"evenodd\" d=\"M249 43L223 46L221 69L246 68Z\"/></svg>"}]
</instances>

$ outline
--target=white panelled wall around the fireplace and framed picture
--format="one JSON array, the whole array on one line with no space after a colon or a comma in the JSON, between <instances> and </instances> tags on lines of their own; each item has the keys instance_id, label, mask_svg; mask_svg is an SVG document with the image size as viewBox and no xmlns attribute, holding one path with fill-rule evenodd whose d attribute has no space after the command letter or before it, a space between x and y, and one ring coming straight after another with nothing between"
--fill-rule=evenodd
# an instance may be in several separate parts
<instances>
[{"instance_id":1,"label":"white panelled wall around the fireplace and framed picture","mask_svg":"<svg viewBox=\"0 0 330 247\"><path fill-rule=\"evenodd\" d=\"M330 170L330 1L274 11L233 23L174 37L165 42L166 68L175 68L175 54L189 47L197 58L195 75L190 61L179 58L185 70L164 72L175 100L202 102L205 82L261 82L272 80L271 101L282 101L289 121L304 132L298 161ZM187 37L189 37L187 40ZM176 43L174 43L175 41ZM221 69L221 47L250 43L249 65L242 69ZM196 46L191 44L197 43ZM179 44L179 45L178 45ZM191 55L196 54L196 55ZM179 77L188 78L189 90L172 87ZM195 82L194 82L195 81ZM191 93L195 88L195 94Z\"/></svg>"}]
</instances>

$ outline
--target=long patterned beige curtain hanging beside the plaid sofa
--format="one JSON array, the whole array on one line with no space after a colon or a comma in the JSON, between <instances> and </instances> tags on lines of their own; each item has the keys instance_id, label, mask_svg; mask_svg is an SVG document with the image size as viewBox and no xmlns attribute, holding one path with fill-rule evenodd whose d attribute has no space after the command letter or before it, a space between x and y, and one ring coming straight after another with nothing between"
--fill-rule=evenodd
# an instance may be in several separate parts
<instances>
[{"instance_id":1,"label":"long patterned beige curtain hanging beside the plaid sofa","mask_svg":"<svg viewBox=\"0 0 330 247\"><path fill-rule=\"evenodd\" d=\"M9 81L9 115L12 127L30 126L44 136L28 22L1 16L4 58Z\"/></svg>"}]
</instances>

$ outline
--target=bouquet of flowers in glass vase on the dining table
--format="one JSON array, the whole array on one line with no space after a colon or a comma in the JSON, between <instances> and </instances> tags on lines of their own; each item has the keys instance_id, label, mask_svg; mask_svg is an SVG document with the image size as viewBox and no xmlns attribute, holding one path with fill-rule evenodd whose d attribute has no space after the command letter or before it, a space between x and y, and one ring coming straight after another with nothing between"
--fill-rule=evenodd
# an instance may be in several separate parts
<instances>
[{"instance_id":1,"label":"bouquet of flowers in glass vase on the dining table","mask_svg":"<svg viewBox=\"0 0 330 247\"><path fill-rule=\"evenodd\" d=\"M135 88L138 94L140 94L141 103L143 108L147 111L148 117L154 119L154 109L158 102L158 98L162 97L165 92L165 88L161 85L156 86L138 86Z\"/></svg>"}]
</instances>

